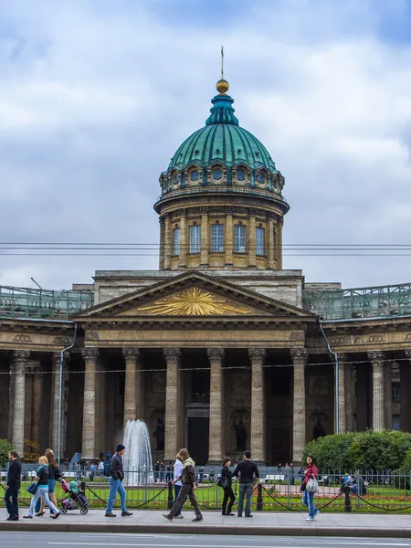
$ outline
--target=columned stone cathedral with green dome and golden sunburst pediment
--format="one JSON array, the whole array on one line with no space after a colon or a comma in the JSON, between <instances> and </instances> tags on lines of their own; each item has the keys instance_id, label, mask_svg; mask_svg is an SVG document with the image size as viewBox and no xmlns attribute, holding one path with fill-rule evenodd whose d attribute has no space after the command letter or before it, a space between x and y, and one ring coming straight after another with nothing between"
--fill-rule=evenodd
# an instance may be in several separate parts
<instances>
[{"instance_id":1,"label":"columned stone cathedral with green dome and golden sunburst pediment","mask_svg":"<svg viewBox=\"0 0 411 548\"><path fill-rule=\"evenodd\" d=\"M335 431L410 430L411 284L344 290L283 269L284 177L227 81L216 90L160 175L158 270L0 288L0 438L27 459L96 458L130 419L154 459L187 447L198 464L245 448L299 462Z\"/></svg>"}]
</instances>

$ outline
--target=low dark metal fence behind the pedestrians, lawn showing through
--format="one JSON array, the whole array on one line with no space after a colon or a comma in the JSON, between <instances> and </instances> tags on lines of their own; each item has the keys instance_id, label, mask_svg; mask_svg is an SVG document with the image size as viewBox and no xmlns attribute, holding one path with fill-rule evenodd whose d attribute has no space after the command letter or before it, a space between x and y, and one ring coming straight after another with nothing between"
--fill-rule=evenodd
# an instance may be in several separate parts
<instances>
[{"instance_id":1,"label":"low dark metal fence behind the pedestrians, lawn showing through","mask_svg":"<svg viewBox=\"0 0 411 548\"><path fill-rule=\"evenodd\" d=\"M254 511L306 511L301 504L301 474L295 469L260 468L260 478L254 490ZM218 487L220 469L197 468L197 501L203 510L221 510L224 491ZM5 469L0 470L1 487L5 487ZM27 485L36 474L26 471L20 490L20 503L27 505L30 496ZM90 469L66 471L68 481L76 481L84 489L90 508L104 508L109 497L109 479L102 472ZM171 472L126 472L127 505L131 509L163 510L174 499ZM1 488L0 488L1 490ZM238 482L233 482L238 498ZM62 501L67 494L56 485L56 496ZM411 473L409 471L369 472L357 470L352 474L332 470L322 472L315 506L321 511L333 512L409 512L411 513ZM1 504L4 504L3 497ZM119 501L117 501L119 504ZM189 507L189 503L187 502ZM236 510L236 507L234 507Z\"/></svg>"}]
</instances>

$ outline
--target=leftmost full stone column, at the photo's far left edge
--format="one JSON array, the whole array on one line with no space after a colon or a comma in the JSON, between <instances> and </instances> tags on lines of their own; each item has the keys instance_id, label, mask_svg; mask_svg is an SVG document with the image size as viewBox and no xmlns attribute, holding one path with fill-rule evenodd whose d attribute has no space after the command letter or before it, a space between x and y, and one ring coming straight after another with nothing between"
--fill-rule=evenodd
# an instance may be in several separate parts
<instances>
[{"instance_id":1,"label":"leftmost full stone column, at the photo's far left edge","mask_svg":"<svg viewBox=\"0 0 411 548\"><path fill-rule=\"evenodd\" d=\"M26 400L26 363L30 353L16 350L13 373L15 374L15 413L13 420L12 443L22 457L25 448L25 400Z\"/></svg>"}]
</instances>

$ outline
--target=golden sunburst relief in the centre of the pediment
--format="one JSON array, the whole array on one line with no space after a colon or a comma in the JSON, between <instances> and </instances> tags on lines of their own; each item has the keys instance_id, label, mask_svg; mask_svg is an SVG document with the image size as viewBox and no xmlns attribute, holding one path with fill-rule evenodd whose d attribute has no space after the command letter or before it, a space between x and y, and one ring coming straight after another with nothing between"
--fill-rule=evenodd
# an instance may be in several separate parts
<instances>
[{"instance_id":1,"label":"golden sunburst relief in the centre of the pediment","mask_svg":"<svg viewBox=\"0 0 411 548\"><path fill-rule=\"evenodd\" d=\"M137 310L160 316L225 316L251 312L246 308L227 304L226 300L198 288L190 288L155 300L152 305L142 306Z\"/></svg>"}]
</instances>

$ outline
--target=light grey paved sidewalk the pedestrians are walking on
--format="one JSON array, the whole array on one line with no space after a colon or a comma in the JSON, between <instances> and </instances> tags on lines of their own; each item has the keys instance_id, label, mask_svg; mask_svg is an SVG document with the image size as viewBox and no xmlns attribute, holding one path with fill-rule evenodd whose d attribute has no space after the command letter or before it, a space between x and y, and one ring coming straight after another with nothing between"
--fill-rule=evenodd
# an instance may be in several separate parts
<instances>
[{"instance_id":1,"label":"light grey paved sidewalk the pedestrians are walking on","mask_svg":"<svg viewBox=\"0 0 411 548\"><path fill-rule=\"evenodd\" d=\"M21 509L21 516L26 513ZM50 520L48 514L42 518L18 522L6 522L7 513L0 509L0 531L60 531L60 532L144 532L144 533L188 533L188 534L253 534L292 536L361 536L411 538L411 516L386 514L342 514L324 513L315 521L306 522L306 513L254 512L252 518L222 516L217 511L205 511L204 522L193 523L193 511L184 511L183 520L167 522L163 511L134 511L122 518L106 518L104 511L90 510L85 516L79 511L70 511Z\"/></svg>"}]
</instances>

